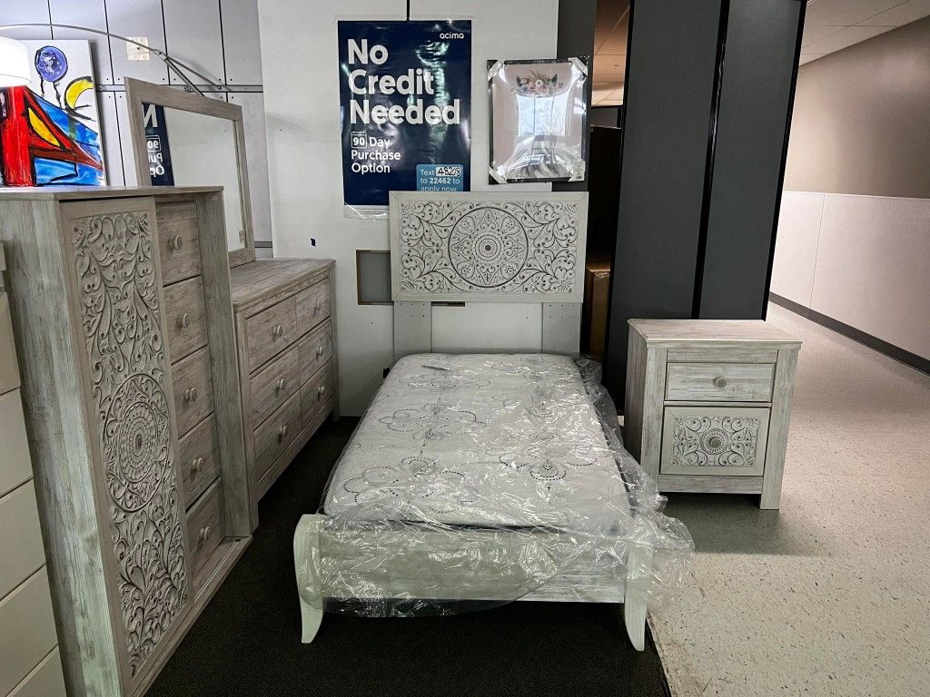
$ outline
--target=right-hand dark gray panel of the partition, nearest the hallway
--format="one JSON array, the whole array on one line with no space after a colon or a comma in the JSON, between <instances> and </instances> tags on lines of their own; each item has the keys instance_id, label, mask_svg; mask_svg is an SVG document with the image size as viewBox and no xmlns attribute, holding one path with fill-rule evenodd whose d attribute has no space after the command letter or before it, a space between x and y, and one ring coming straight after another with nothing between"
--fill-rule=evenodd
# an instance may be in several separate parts
<instances>
[{"instance_id":1,"label":"right-hand dark gray panel of the partition, nearest the hallway","mask_svg":"<svg viewBox=\"0 0 930 697\"><path fill-rule=\"evenodd\" d=\"M803 7L730 0L698 317L764 317Z\"/></svg>"}]
</instances>

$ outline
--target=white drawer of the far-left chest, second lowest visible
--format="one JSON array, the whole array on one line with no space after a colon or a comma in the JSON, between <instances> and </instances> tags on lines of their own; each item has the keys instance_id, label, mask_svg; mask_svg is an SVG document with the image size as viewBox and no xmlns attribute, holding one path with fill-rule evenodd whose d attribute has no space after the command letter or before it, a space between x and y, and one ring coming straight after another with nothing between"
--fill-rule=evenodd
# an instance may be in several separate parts
<instances>
[{"instance_id":1,"label":"white drawer of the far-left chest, second lowest visible","mask_svg":"<svg viewBox=\"0 0 930 697\"><path fill-rule=\"evenodd\" d=\"M0 638L0 694L7 694L58 643L44 568L0 600Z\"/></svg>"}]
</instances>

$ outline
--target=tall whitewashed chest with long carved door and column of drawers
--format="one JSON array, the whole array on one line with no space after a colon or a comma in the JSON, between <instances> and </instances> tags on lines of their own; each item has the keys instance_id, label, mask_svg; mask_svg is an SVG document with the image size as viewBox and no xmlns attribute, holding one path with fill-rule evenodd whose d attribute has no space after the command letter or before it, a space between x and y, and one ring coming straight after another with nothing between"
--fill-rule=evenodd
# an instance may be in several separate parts
<instances>
[{"instance_id":1,"label":"tall whitewashed chest with long carved door and column of drawers","mask_svg":"<svg viewBox=\"0 0 930 697\"><path fill-rule=\"evenodd\" d=\"M0 193L70 695L143 693L257 525L220 191Z\"/></svg>"}]
</instances>

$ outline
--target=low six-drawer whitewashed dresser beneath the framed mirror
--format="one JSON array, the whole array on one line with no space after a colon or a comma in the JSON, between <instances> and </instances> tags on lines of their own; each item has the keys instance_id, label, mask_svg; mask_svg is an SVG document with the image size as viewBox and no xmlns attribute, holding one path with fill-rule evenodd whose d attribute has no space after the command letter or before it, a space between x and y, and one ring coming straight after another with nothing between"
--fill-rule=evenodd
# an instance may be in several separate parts
<instances>
[{"instance_id":1,"label":"low six-drawer whitewashed dresser beneath the framed mirror","mask_svg":"<svg viewBox=\"0 0 930 697\"><path fill-rule=\"evenodd\" d=\"M253 506L337 410L333 266L260 259L230 271Z\"/></svg>"}]
</instances>

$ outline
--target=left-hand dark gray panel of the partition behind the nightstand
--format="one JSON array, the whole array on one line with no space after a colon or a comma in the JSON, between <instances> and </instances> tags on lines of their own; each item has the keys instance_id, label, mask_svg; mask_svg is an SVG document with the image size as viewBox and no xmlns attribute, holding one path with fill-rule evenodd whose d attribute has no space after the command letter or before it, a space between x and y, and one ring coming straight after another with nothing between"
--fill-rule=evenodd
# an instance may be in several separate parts
<instances>
[{"instance_id":1,"label":"left-hand dark gray panel of the partition behind the nightstand","mask_svg":"<svg viewBox=\"0 0 930 697\"><path fill-rule=\"evenodd\" d=\"M691 316L720 0L631 8L605 382L623 401L627 320Z\"/></svg>"}]
</instances>

